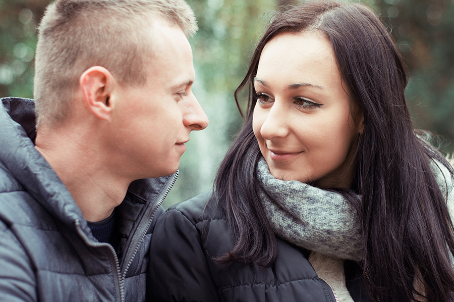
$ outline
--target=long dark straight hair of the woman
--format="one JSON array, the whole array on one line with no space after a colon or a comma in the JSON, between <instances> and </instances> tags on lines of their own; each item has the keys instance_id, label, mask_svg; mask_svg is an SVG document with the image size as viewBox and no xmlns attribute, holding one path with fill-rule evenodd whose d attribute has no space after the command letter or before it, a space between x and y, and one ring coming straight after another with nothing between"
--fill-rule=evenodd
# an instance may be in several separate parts
<instances>
[{"instance_id":1,"label":"long dark straight hair of the woman","mask_svg":"<svg viewBox=\"0 0 454 302\"><path fill-rule=\"evenodd\" d=\"M222 161L215 197L235 242L217 259L270 265L276 238L257 192L260 150L252 130L253 79L265 44L282 32L317 31L331 42L351 99L364 114L364 131L355 156L354 186L362 200L352 206L362 221L366 288L381 301L452 300L454 228L431 172L431 161L452 168L419 138L408 112L408 71L383 24L358 4L309 2L277 14L258 43L249 70L235 92L248 89L245 125ZM241 109L240 109L241 111ZM451 176L452 177L452 176ZM449 189L449 188L447 188ZM423 290L414 288L420 276Z\"/></svg>"}]
</instances>

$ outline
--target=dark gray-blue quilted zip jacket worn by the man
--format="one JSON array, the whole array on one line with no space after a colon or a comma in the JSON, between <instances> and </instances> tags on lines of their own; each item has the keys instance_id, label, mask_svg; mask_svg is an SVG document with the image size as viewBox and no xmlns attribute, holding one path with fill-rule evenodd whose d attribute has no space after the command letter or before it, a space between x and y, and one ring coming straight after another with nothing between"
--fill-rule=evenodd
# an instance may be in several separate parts
<instances>
[{"instance_id":1,"label":"dark gray-blue quilted zip jacket worn by the man","mask_svg":"<svg viewBox=\"0 0 454 302\"><path fill-rule=\"evenodd\" d=\"M143 301L153 217L176 174L133 182L118 255L34 148L34 102L0 102L0 301Z\"/></svg>"}]
</instances>

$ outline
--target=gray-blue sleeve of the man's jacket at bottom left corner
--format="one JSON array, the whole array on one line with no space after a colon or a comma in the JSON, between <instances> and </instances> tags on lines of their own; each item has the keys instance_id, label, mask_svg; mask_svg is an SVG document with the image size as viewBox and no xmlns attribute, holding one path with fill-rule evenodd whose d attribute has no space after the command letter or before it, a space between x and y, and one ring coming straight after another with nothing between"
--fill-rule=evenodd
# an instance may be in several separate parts
<instances>
[{"instance_id":1,"label":"gray-blue sleeve of the man's jacket at bottom left corner","mask_svg":"<svg viewBox=\"0 0 454 302\"><path fill-rule=\"evenodd\" d=\"M0 221L0 300L37 301L36 277L22 244Z\"/></svg>"}]
</instances>

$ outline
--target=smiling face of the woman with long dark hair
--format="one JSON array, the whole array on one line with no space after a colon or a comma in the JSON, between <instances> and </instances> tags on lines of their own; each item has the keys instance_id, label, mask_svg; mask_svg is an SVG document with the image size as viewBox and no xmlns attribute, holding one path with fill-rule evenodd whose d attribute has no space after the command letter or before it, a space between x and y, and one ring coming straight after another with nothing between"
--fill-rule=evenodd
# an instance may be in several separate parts
<instances>
[{"instance_id":1,"label":"smiling face of the woman with long dark hair","mask_svg":"<svg viewBox=\"0 0 454 302\"><path fill-rule=\"evenodd\" d=\"M253 130L274 177L351 185L362 118L351 112L346 87L325 36L282 33L265 45L254 78Z\"/></svg>"}]
</instances>

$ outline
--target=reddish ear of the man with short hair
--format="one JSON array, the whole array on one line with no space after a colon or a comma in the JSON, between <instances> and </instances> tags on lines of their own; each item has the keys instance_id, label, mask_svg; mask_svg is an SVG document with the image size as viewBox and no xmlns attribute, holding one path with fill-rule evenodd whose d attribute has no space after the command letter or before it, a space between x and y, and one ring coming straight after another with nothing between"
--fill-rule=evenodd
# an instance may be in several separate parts
<instances>
[{"instance_id":1,"label":"reddish ear of the man with short hair","mask_svg":"<svg viewBox=\"0 0 454 302\"><path fill-rule=\"evenodd\" d=\"M101 66L93 66L84 71L79 85L88 110L101 120L109 120L112 104L110 94L115 85L112 74Z\"/></svg>"}]
</instances>

